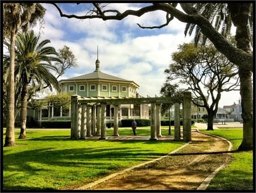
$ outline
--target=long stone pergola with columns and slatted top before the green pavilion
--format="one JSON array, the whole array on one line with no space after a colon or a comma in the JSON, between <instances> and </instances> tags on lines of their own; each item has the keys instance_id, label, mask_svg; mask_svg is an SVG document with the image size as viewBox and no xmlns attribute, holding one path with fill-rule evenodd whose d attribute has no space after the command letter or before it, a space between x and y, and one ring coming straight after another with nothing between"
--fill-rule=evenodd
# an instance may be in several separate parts
<instances>
[{"instance_id":1,"label":"long stone pergola with columns and slatted top before the green pavilion","mask_svg":"<svg viewBox=\"0 0 256 193\"><path fill-rule=\"evenodd\" d=\"M151 104L151 138L157 140L161 136L160 104L175 104L174 139L180 140L180 103L183 112L183 140L191 141L191 93L184 92L183 97L80 97L71 96L71 139L91 137L97 128L99 139L106 137L106 105L114 106L114 133L118 135L118 110L121 104ZM91 108L93 106L93 108ZM97 108L97 119L96 111ZM96 122L97 120L97 122Z\"/></svg>"}]
</instances>

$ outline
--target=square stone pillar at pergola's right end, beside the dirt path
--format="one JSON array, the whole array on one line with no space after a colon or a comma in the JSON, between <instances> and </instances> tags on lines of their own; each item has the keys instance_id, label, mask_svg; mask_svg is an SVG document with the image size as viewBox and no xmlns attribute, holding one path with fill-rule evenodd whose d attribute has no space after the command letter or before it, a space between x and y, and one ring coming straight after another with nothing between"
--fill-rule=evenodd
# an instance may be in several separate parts
<instances>
[{"instance_id":1,"label":"square stone pillar at pergola's right end, beside the dirt path","mask_svg":"<svg viewBox=\"0 0 256 193\"><path fill-rule=\"evenodd\" d=\"M183 95L183 141L191 141L191 93Z\"/></svg>"}]
</instances>

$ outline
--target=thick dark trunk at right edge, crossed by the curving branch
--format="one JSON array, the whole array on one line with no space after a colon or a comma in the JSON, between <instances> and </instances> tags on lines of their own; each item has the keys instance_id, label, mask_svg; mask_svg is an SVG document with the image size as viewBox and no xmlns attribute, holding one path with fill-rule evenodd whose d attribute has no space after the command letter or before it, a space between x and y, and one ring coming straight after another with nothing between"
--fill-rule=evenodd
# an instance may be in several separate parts
<instances>
[{"instance_id":1,"label":"thick dark trunk at right edge, crossed by the curving branch","mask_svg":"<svg viewBox=\"0 0 256 193\"><path fill-rule=\"evenodd\" d=\"M251 4L238 3L228 4L231 12L231 19L236 30L237 47L241 50L251 53L250 49L250 32L248 28L248 16ZM247 66L251 65L248 63ZM243 141L239 146L239 150L252 149L253 145L253 132L252 132L252 82L251 75L247 66L239 66L240 77L240 95L242 105L242 118L243 118Z\"/></svg>"}]
</instances>

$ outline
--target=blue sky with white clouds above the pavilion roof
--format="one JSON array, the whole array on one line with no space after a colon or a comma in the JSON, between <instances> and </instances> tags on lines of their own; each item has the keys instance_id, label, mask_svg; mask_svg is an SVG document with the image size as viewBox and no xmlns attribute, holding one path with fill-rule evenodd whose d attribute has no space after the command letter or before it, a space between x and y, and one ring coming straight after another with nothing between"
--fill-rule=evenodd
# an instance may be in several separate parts
<instances>
[{"instance_id":1,"label":"blue sky with white clouds above the pavilion roof","mask_svg":"<svg viewBox=\"0 0 256 193\"><path fill-rule=\"evenodd\" d=\"M60 17L57 9L42 4L46 9L45 23L34 27L41 39L50 39L56 50L64 45L70 47L77 58L77 68L68 69L58 80L91 73L95 70L97 46L101 72L133 80L140 85L137 92L146 96L160 95L161 85L166 79L164 70L172 62L171 54L179 44L190 42L192 36L184 35L185 23L176 18L161 29L141 29L143 26L159 26L165 23L165 13L156 11L141 17L128 16L125 19L75 19ZM90 4L58 4L65 14L83 15ZM137 10L142 4L110 4L110 9L120 12ZM232 31L234 31L233 29ZM182 86L181 86L182 87ZM239 91L224 92L219 107L238 103Z\"/></svg>"}]
</instances>

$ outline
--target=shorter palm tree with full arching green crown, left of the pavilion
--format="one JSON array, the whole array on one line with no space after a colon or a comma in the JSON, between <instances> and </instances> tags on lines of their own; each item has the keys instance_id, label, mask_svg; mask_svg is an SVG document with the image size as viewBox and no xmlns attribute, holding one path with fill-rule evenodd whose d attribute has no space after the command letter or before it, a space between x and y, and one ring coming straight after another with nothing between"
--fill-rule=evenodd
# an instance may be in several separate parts
<instances>
[{"instance_id":1,"label":"shorter palm tree with full arching green crown, left of the pavilion","mask_svg":"<svg viewBox=\"0 0 256 193\"><path fill-rule=\"evenodd\" d=\"M28 88L32 84L39 84L41 89L44 85L52 90L59 91L56 77L50 72L57 68L52 65L52 61L60 62L56 57L58 54L53 47L47 47L49 39L39 42L39 36L35 36L33 31L29 33L18 33L16 38L15 51L15 75L16 90L20 90L20 134L19 139L26 138L26 117Z\"/></svg>"}]
</instances>

